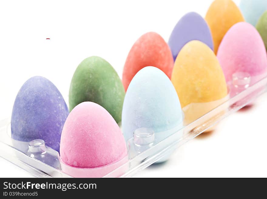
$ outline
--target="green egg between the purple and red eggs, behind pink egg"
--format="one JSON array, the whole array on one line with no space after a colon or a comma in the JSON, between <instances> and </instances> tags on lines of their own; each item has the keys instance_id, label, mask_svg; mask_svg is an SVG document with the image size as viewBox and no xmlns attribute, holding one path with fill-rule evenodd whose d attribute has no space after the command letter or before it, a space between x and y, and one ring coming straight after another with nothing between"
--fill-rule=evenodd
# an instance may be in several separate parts
<instances>
[{"instance_id":1,"label":"green egg between the purple and red eggs, behind pink egg","mask_svg":"<svg viewBox=\"0 0 267 199\"><path fill-rule=\"evenodd\" d=\"M121 121L124 87L115 69L101 57L84 59L75 70L69 88L70 111L90 101L104 107L114 120Z\"/></svg>"}]
</instances>

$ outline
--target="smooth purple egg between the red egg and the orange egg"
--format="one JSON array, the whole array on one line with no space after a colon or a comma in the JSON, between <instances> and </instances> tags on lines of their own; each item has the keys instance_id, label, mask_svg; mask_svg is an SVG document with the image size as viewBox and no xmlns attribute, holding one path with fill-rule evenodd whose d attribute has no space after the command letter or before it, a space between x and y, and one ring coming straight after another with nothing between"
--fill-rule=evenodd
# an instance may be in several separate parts
<instances>
[{"instance_id":1,"label":"smooth purple egg between the red egg and the orange egg","mask_svg":"<svg viewBox=\"0 0 267 199\"><path fill-rule=\"evenodd\" d=\"M184 45L192 40L199 40L213 50L213 40L208 24L196 12L189 12L184 15L171 33L168 44L174 61Z\"/></svg>"}]
</instances>

